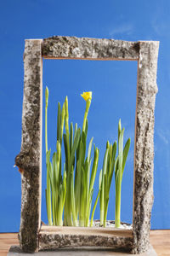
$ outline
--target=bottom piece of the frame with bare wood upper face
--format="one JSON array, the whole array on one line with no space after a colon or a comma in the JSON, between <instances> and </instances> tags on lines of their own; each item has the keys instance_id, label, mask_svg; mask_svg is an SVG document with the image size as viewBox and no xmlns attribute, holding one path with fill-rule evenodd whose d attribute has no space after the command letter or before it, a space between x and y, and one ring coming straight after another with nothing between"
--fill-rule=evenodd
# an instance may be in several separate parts
<instances>
[{"instance_id":1,"label":"bottom piece of the frame with bare wood upper face","mask_svg":"<svg viewBox=\"0 0 170 256\"><path fill-rule=\"evenodd\" d=\"M132 230L111 228L45 227L39 233L39 250L74 247L111 247L131 251Z\"/></svg>"}]
</instances>

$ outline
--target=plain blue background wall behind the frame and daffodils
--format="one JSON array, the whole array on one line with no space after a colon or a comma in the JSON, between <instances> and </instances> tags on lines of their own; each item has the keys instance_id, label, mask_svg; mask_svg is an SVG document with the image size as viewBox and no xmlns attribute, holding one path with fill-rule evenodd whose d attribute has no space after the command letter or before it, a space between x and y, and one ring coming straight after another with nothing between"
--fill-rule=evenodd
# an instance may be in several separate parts
<instances>
[{"instance_id":1,"label":"plain blue background wall behind the frame and daffodils","mask_svg":"<svg viewBox=\"0 0 170 256\"><path fill-rule=\"evenodd\" d=\"M23 52L26 38L53 35L160 41L155 124L155 201L152 229L170 229L170 2L155 1L1 1L0 8L0 232L20 228L20 173L14 157L20 152L23 100ZM69 98L70 120L82 126L83 90L93 91L88 115L88 140L99 147L99 170L105 143L117 139L119 118L125 139L131 137L122 181L122 221L132 222L133 136L136 102L136 61L43 61L43 96L49 89L48 145L55 149L57 102ZM43 100L44 103L44 100ZM44 114L44 104L43 104ZM44 125L44 119L43 119ZM43 131L44 136L44 131ZM44 189L44 137L42 148L42 220L47 222ZM99 170L94 186L98 192ZM108 218L114 219L114 180ZM99 205L95 212L99 218Z\"/></svg>"}]
</instances>

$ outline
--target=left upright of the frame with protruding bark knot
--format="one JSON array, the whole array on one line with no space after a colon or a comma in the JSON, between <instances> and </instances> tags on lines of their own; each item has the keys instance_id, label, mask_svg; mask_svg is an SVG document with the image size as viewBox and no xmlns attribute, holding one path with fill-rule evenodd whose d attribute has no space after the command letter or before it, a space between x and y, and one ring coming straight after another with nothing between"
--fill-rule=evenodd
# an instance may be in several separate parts
<instances>
[{"instance_id":1,"label":"left upright of the frame with protruding bark knot","mask_svg":"<svg viewBox=\"0 0 170 256\"><path fill-rule=\"evenodd\" d=\"M23 172L20 247L31 253L38 247L42 189L42 40L26 40L24 53L22 142L15 165Z\"/></svg>"}]
</instances>

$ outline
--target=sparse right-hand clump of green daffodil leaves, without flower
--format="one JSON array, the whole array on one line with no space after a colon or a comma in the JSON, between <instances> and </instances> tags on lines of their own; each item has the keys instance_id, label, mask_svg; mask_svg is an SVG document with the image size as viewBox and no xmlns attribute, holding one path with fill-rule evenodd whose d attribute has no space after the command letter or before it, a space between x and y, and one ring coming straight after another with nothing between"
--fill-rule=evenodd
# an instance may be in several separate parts
<instances>
[{"instance_id":1,"label":"sparse right-hand clump of green daffodil leaves, without flower","mask_svg":"<svg viewBox=\"0 0 170 256\"><path fill-rule=\"evenodd\" d=\"M111 189L111 180L113 172L115 170L115 226L120 227L121 224L121 190L122 190L122 175L124 172L127 154L130 148L130 138L127 139L127 143L123 148L123 135L124 128L122 129L121 119L118 124L118 154L116 156L117 143L110 145L106 143L105 156L103 160L103 168L99 173L99 192L94 203L94 210L99 200L100 206L100 226L106 225L107 210L109 203L109 195ZM93 226L94 211L92 212L91 226Z\"/></svg>"}]
</instances>

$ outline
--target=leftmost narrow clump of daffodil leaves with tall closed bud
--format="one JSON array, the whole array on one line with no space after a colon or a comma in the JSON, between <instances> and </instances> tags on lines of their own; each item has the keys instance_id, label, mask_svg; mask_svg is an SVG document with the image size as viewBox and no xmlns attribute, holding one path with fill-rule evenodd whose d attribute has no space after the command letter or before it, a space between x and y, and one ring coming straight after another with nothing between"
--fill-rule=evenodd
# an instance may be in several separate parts
<instances>
[{"instance_id":1,"label":"leftmost narrow clump of daffodil leaves with tall closed bud","mask_svg":"<svg viewBox=\"0 0 170 256\"><path fill-rule=\"evenodd\" d=\"M61 174L61 143L65 121L65 104L62 112L58 104L57 120L57 143L56 152L50 161L51 149L48 150L48 88L46 88L46 107L45 107L45 140L46 140L46 167L47 167L47 189L46 206L48 212L49 225L62 225L62 215L65 205L66 195L66 172L64 166L63 176Z\"/></svg>"}]
</instances>

